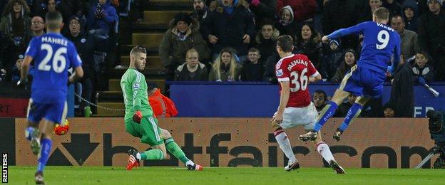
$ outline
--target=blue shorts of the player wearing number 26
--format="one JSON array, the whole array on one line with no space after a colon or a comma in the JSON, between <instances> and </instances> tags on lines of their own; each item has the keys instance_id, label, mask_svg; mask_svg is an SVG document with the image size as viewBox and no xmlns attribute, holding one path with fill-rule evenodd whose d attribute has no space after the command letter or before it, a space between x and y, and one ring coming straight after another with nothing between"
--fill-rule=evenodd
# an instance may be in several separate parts
<instances>
[{"instance_id":1,"label":"blue shorts of the player wearing number 26","mask_svg":"<svg viewBox=\"0 0 445 185\"><path fill-rule=\"evenodd\" d=\"M54 123L61 123L66 118L68 106L63 103L37 103L29 99L28 120L39 123L42 118Z\"/></svg>"}]
</instances>

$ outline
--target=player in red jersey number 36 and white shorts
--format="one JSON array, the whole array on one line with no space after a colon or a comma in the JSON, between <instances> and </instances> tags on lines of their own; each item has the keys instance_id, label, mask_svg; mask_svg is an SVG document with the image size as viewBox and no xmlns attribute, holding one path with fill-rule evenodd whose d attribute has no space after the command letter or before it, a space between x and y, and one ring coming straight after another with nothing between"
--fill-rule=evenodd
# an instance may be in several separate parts
<instances>
[{"instance_id":1,"label":"player in red jersey number 36 and white shorts","mask_svg":"<svg viewBox=\"0 0 445 185\"><path fill-rule=\"evenodd\" d=\"M286 171L300 168L300 163L295 158L284 129L298 125L302 125L307 130L314 128L318 113L314 103L311 102L307 84L322 79L307 56L292 54L294 48L292 43L290 36L280 36L277 39L277 52L280 54L281 60L275 65L275 75L280 82L280 106L272 118L275 139L289 159L285 166ZM337 174L344 174L342 166L339 166L335 161L329 146L323 142L320 134L317 135L314 144L319 154L329 162L332 169L337 171Z\"/></svg>"}]
</instances>

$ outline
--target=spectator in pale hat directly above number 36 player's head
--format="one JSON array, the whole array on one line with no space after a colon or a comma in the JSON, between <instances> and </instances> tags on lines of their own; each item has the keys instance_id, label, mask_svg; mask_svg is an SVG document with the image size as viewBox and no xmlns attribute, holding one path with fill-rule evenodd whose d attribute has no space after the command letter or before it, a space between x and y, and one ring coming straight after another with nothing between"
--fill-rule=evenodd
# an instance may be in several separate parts
<instances>
[{"instance_id":1,"label":"spectator in pale hat directly above number 36 player's head","mask_svg":"<svg viewBox=\"0 0 445 185\"><path fill-rule=\"evenodd\" d=\"M297 32L297 23L294 21L294 11L290 6L285 6L278 13L279 20L275 23L275 28L280 31L280 36L295 36Z\"/></svg>"}]
</instances>

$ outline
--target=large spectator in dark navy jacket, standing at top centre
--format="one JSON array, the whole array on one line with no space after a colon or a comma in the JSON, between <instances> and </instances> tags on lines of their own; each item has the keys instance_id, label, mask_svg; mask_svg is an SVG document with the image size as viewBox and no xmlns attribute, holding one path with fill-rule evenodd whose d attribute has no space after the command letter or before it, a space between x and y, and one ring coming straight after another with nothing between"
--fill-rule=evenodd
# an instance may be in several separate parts
<instances>
[{"instance_id":1,"label":"large spectator in dark navy jacket, standing at top centre","mask_svg":"<svg viewBox=\"0 0 445 185\"><path fill-rule=\"evenodd\" d=\"M208 23L203 25L203 31L213 58L226 47L235 48L241 61L247 58L249 45L255 38L255 26L246 4L245 0L217 0L210 4Z\"/></svg>"}]
</instances>

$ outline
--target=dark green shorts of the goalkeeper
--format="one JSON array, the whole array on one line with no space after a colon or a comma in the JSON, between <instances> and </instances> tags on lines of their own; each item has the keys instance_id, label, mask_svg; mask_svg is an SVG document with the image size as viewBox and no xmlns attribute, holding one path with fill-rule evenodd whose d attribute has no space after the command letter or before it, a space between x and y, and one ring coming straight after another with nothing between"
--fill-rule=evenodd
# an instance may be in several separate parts
<instances>
[{"instance_id":1,"label":"dark green shorts of the goalkeeper","mask_svg":"<svg viewBox=\"0 0 445 185\"><path fill-rule=\"evenodd\" d=\"M152 147L164 143L160 136L158 120L154 117L142 117L140 124L133 121L126 122L126 132L139 137L140 142L150 144Z\"/></svg>"}]
</instances>

